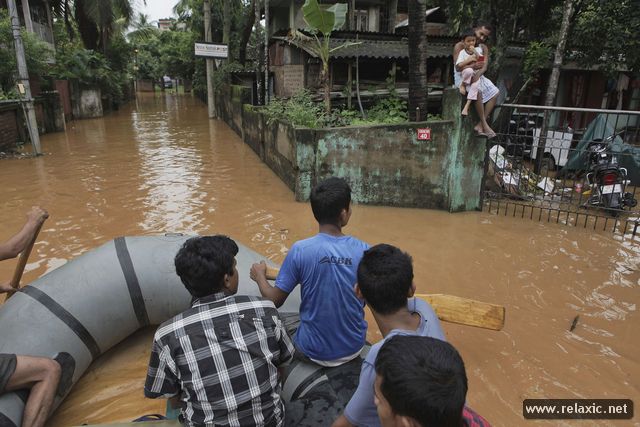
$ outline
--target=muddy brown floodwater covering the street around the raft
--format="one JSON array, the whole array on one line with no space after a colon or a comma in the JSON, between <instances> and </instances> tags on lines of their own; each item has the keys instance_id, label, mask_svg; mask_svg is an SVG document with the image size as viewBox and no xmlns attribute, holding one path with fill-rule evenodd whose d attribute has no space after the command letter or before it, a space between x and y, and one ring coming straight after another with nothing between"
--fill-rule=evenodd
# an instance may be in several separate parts
<instances>
[{"instance_id":1,"label":"muddy brown floodwater covering the street around the raft","mask_svg":"<svg viewBox=\"0 0 640 427\"><path fill-rule=\"evenodd\" d=\"M51 213L23 283L122 235L225 233L282 262L293 242L316 231L309 206L189 96L139 97L103 119L71 122L42 145L43 157L0 160L0 239L22 225L30 206ZM354 206L345 231L408 251L418 292L506 306L501 332L444 325L466 363L468 403L493 425L639 424L638 415L522 417L525 398L640 403L637 241L486 213L372 206ZM1 263L0 279L14 266ZM152 334L141 330L94 362L49 425L163 413L163 401L142 393Z\"/></svg>"}]
</instances>

